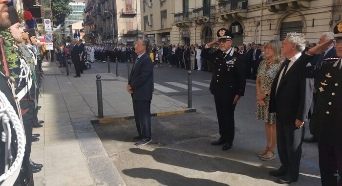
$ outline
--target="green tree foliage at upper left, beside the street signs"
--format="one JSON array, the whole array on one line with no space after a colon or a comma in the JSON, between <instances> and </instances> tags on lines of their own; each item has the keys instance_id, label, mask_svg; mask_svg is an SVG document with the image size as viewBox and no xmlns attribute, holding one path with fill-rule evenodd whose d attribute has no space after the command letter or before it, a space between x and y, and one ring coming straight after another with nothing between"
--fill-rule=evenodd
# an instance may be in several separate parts
<instances>
[{"instance_id":1,"label":"green tree foliage at upper left, beside the street signs","mask_svg":"<svg viewBox=\"0 0 342 186\"><path fill-rule=\"evenodd\" d=\"M72 12L69 2L70 0L51 0L52 16L55 16L53 17L54 26L57 27L58 25L64 23L65 18L68 17Z\"/></svg>"}]
</instances>

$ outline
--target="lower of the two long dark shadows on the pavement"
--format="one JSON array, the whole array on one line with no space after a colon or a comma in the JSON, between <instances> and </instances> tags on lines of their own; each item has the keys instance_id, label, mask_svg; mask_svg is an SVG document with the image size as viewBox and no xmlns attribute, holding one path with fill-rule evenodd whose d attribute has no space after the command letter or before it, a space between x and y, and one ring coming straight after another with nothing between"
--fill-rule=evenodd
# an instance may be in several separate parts
<instances>
[{"instance_id":1,"label":"lower of the two long dark shadows on the pavement","mask_svg":"<svg viewBox=\"0 0 342 186\"><path fill-rule=\"evenodd\" d=\"M213 180L187 178L176 173L159 169L132 168L123 170L123 173L133 178L153 179L166 186L229 186Z\"/></svg>"}]
</instances>

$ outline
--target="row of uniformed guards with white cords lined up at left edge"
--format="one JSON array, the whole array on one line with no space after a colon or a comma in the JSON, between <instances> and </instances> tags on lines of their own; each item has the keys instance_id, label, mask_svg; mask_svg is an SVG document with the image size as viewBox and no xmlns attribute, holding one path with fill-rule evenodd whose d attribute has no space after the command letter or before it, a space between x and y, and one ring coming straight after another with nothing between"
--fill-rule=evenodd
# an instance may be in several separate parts
<instances>
[{"instance_id":1,"label":"row of uniformed guards with white cords lined up at left edge","mask_svg":"<svg viewBox=\"0 0 342 186\"><path fill-rule=\"evenodd\" d=\"M44 123L38 111L46 50L36 38L35 23L27 21L25 26L8 3L0 0L0 183L33 186L32 174L43 167L32 162L30 154L32 142L40 137L32 134L33 127ZM23 14L32 17L29 11Z\"/></svg>"}]
</instances>

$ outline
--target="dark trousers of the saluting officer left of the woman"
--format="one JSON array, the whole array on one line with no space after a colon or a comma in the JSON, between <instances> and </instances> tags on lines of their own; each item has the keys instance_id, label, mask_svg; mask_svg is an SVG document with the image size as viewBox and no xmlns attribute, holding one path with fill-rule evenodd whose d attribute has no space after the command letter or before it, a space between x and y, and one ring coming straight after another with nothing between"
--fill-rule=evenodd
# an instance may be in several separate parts
<instances>
[{"instance_id":1,"label":"dark trousers of the saluting officer left of the woman","mask_svg":"<svg viewBox=\"0 0 342 186\"><path fill-rule=\"evenodd\" d=\"M233 143L235 135L235 121L233 105L234 97L227 96L227 93L214 94L216 114L221 137L229 143Z\"/></svg>"}]
</instances>

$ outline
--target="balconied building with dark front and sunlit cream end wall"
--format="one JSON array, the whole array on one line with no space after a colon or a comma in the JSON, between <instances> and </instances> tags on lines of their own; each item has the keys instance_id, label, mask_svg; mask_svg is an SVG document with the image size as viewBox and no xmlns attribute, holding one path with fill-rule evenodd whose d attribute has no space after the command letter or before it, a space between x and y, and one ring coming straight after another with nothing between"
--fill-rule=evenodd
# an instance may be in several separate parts
<instances>
[{"instance_id":1,"label":"balconied building with dark front and sunlit cream end wall","mask_svg":"<svg viewBox=\"0 0 342 186\"><path fill-rule=\"evenodd\" d=\"M85 3L87 43L132 45L142 39L139 0L86 0Z\"/></svg>"}]
</instances>

